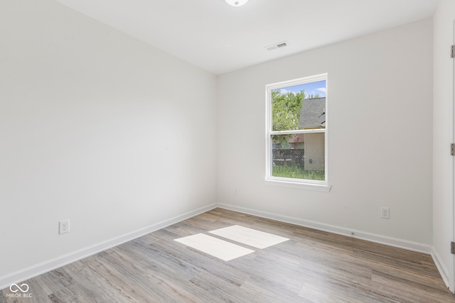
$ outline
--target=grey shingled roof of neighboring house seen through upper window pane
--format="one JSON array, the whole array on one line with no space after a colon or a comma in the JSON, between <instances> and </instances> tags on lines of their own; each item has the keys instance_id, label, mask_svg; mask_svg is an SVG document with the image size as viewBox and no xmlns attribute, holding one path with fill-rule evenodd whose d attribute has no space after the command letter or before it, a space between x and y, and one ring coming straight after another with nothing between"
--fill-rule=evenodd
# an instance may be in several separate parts
<instances>
[{"instance_id":1,"label":"grey shingled roof of neighboring house seen through upper window pane","mask_svg":"<svg viewBox=\"0 0 455 303\"><path fill-rule=\"evenodd\" d=\"M326 126L326 97L304 99L301 102L299 128L323 128Z\"/></svg>"}]
</instances>

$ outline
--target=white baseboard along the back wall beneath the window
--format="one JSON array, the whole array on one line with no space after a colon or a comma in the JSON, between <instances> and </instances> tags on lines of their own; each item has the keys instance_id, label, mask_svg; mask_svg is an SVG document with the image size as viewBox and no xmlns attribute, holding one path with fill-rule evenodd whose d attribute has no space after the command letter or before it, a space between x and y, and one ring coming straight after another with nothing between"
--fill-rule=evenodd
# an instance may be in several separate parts
<instances>
[{"instance_id":1,"label":"white baseboard along the back wall beneath the window","mask_svg":"<svg viewBox=\"0 0 455 303\"><path fill-rule=\"evenodd\" d=\"M295 224L298 226L314 228L319 231L327 231L327 232L336 233L336 234L342 235L342 236L349 236L349 237L358 238L358 239L365 240L365 241L385 244L387 246L404 248L407 250L416 251L418 253L426 253L426 254L430 255L433 252L432 246L429 246L427 244L402 240L399 238L381 236L381 235L377 235L375 233L367 233L365 231L356 231L356 230L349 229L349 228L334 226L334 225L330 225L330 224L323 224L323 223L299 219L299 218L291 217L291 216L273 214L273 213L269 213L267 211L258 211L255 209L247 209L245 207L234 206L234 205L230 205L230 204L216 204L216 205L222 209L238 211L243 214L251 214L253 216L260 216L262 218L281 221L284 223L290 223L290 224Z\"/></svg>"}]
</instances>

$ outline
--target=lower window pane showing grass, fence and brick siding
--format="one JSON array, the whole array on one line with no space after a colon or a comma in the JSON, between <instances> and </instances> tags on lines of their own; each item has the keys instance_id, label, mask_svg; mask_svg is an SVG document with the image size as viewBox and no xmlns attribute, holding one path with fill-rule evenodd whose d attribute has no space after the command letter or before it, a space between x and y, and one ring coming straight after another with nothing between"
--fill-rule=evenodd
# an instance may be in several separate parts
<instances>
[{"instance_id":1,"label":"lower window pane showing grass, fence and brick siding","mask_svg":"<svg viewBox=\"0 0 455 303\"><path fill-rule=\"evenodd\" d=\"M272 135L272 176L325 180L325 133Z\"/></svg>"}]
</instances>

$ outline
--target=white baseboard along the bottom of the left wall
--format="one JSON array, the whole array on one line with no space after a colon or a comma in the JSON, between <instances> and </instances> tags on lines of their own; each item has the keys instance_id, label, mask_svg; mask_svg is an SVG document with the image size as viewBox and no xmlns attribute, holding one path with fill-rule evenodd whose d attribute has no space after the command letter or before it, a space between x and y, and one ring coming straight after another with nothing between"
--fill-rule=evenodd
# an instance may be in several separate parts
<instances>
[{"instance_id":1,"label":"white baseboard along the bottom of the left wall","mask_svg":"<svg viewBox=\"0 0 455 303\"><path fill-rule=\"evenodd\" d=\"M171 219L161 221L159 223L152 224L150 226L146 226L137 231L133 231L131 233L126 233L122 236L118 236L116 238L112 238L110 240L107 240L107 241L104 241L101 243L97 243L95 245L88 246L86 248L82 248L80 250L74 251L73 253L61 255L58 258L46 260L42 263L32 265L28 268L23 268L22 270L18 270L16 272L11 272L8 275L4 275L4 276L0 277L0 290L3 290L4 288L9 287L10 285L12 285L14 283L17 284L24 280L31 279L32 277L42 275L43 273L49 272L50 270L55 270L56 268L60 268L64 265L68 265L77 260L87 258L90 255L95 255L95 253L100 253L103 250L107 250L114 246L118 246L122 243L132 241L135 238L139 238L140 236L146 235L147 233L157 231L166 226L170 226L172 224L176 224L180 221L189 219L198 214L202 214L203 212L209 211L210 209L214 209L215 207L216 207L216 204L210 204L208 206L201 207L194 211L189 211L185 214L175 216Z\"/></svg>"}]
</instances>

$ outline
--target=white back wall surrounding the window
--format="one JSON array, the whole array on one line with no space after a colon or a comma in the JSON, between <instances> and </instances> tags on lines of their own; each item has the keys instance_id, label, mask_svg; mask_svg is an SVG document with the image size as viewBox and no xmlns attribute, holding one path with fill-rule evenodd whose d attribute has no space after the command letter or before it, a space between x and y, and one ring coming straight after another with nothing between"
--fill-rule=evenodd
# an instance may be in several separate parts
<instances>
[{"instance_id":1,"label":"white back wall surrounding the window","mask_svg":"<svg viewBox=\"0 0 455 303\"><path fill-rule=\"evenodd\" d=\"M265 85L324 72L331 192L266 185ZM432 75L431 19L220 75L218 202L430 251Z\"/></svg>"}]
</instances>

